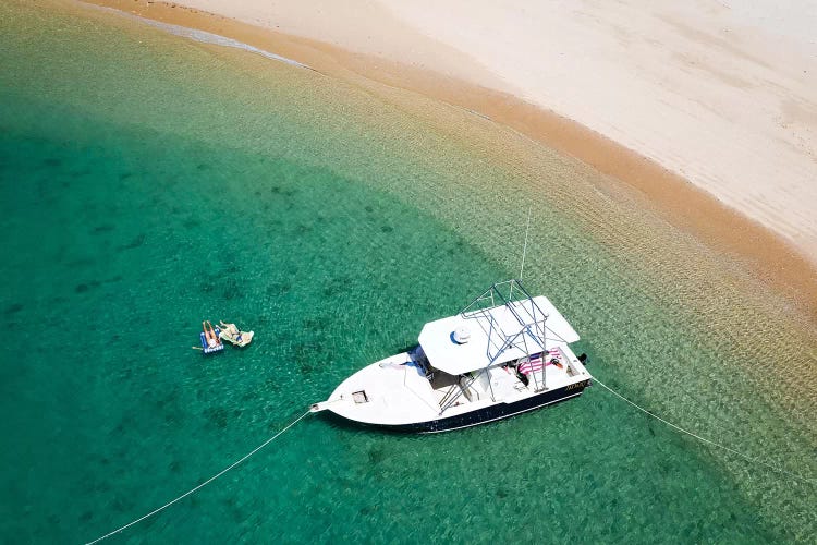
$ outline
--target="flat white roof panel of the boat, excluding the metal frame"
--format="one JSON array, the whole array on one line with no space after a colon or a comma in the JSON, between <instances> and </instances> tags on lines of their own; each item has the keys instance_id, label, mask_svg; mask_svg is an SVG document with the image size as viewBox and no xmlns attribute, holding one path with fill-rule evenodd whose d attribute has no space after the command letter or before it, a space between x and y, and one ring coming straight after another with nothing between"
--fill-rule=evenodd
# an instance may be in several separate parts
<instances>
[{"instance_id":1,"label":"flat white roof panel of the boat, excluding the metal frame","mask_svg":"<svg viewBox=\"0 0 817 545\"><path fill-rule=\"evenodd\" d=\"M564 319L564 316L557 311L556 306L544 295L531 300L515 301L513 311L507 305L495 306L485 311L486 314L468 314L473 317L465 317L462 314L450 316L448 318L429 322L423 327L419 334L419 344L426 353L431 365L442 372L451 375L462 375L474 370L481 370L490 363L490 354L496 354L503 340L511 338L522 331L526 325L532 325L533 319L525 319L526 316L539 315L544 312L548 318L545 322L545 346L540 346L537 339L532 336L525 336L527 351L521 346L508 348L495 363L508 362L525 356L528 353L537 353L551 348L557 343L571 343L578 340L578 334ZM538 308L533 308L533 305ZM495 330L490 335L491 347L489 350L489 334L491 330L492 317L495 328L498 327L501 334ZM522 323L517 317L522 317ZM467 328L471 332L471 339L464 344L458 344L452 339L452 334L459 328ZM552 344L551 344L552 343Z\"/></svg>"}]
</instances>

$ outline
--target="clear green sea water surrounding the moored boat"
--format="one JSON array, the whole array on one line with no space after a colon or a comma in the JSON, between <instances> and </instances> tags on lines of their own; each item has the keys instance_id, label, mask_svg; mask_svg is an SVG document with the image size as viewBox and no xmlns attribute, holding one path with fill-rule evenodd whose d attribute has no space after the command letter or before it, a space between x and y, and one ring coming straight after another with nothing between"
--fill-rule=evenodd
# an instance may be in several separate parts
<instances>
[{"instance_id":1,"label":"clear green sea water surrounding the moored boat","mask_svg":"<svg viewBox=\"0 0 817 545\"><path fill-rule=\"evenodd\" d=\"M536 222L526 278L592 371L815 474L813 396L746 371L776 347L813 391L814 338L755 327L766 307L715 258L672 270L659 249L708 251L668 226L633 218L654 238L627 243L593 199L626 203L588 196L583 167L536 148L525 170L320 74L110 15L0 15L0 541L88 541L220 471L515 275L532 191L574 213ZM202 319L256 340L204 360ZM310 416L111 541L807 542L814 501L593 388L439 436Z\"/></svg>"}]
</instances>

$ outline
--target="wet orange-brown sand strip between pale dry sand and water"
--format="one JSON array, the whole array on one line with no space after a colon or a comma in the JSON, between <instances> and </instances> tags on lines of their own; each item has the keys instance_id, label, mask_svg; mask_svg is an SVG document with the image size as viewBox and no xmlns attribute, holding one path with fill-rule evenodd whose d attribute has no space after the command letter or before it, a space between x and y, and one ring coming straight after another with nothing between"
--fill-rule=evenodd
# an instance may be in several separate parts
<instances>
[{"instance_id":1,"label":"wet orange-brown sand strip between pale dry sand and water","mask_svg":"<svg viewBox=\"0 0 817 545\"><path fill-rule=\"evenodd\" d=\"M805 250L654 160L553 111L427 68L345 51L194 8L127 0L87 3L212 33L352 84L374 83L417 93L488 118L613 179L670 225L745 264L754 277L782 292L812 320L817 320L817 262Z\"/></svg>"}]
</instances>

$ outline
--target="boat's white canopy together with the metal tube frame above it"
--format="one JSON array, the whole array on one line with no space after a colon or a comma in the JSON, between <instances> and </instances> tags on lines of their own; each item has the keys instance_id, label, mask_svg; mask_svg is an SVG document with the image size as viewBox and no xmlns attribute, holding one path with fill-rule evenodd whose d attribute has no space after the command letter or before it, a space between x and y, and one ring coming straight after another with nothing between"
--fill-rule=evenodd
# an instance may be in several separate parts
<instances>
[{"instance_id":1,"label":"boat's white canopy together with the metal tube frame above it","mask_svg":"<svg viewBox=\"0 0 817 545\"><path fill-rule=\"evenodd\" d=\"M510 295L517 289L517 293L526 296L514 301L510 295L500 295L498 287L508 284ZM466 341L458 342L463 339ZM553 304L542 295L532 298L517 280L492 286L456 316L429 322L419 334L419 344L429 363L451 375L510 362L545 352L557 343L577 340L578 334Z\"/></svg>"}]
</instances>

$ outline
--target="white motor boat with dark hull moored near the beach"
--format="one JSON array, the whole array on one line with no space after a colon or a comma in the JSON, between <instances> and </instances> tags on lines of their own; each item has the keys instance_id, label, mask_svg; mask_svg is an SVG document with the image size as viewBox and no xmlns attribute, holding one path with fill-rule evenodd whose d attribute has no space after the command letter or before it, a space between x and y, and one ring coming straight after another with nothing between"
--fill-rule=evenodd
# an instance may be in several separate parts
<instances>
[{"instance_id":1,"label":"white motor boat with dark hull moored near the beach","mask_svg":"<svg viewBox=\"0 0 817 545\"><path fill-rule=\"evenodd\" d=\"M590 385L578 335L519 280L495 283L419 344L346 378L312 405L361 424L435 433L507 419L580 396Z\"/></svg>"}]
</instances>

